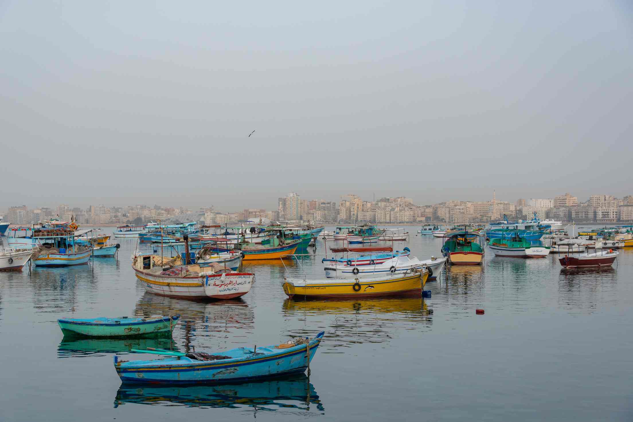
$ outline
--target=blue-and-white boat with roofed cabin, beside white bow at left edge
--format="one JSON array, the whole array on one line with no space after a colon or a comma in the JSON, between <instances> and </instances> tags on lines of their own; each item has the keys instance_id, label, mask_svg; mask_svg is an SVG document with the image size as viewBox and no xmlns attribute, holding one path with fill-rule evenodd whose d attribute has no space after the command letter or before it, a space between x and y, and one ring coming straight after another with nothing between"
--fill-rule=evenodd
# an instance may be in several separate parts
<instances>
[{"instance_id":1,"label":"blue-and-white boat with roofed cabin, beside white bow at left edge","mask_svg":"<svg viewBox=\"0 0 633 422\"><path fill-rule=\"evenodd\" d=\"M75 243L75 231L68 227L35 229L33 239L42 245L31 258L35 267L82 265L92 255L92 246Z\"/></svg>"}]
</instances>

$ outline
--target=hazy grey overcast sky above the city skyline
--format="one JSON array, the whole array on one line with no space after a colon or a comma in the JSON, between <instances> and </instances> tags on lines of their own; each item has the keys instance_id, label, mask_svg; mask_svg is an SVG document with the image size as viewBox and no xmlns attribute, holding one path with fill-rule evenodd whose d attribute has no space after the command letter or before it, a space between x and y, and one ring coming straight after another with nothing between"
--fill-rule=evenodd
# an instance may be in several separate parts
<instances>
[{"instance_id":1,"label":"hazy grey overcast sky above the city skyline","mask_svg":"<svg viewBox=\"0 0 633 422\"><path fill-rule=\"evenodd\" d=\"M4 0L0 210L633 194L631 4Z\"/></svg>"}]
</instances>

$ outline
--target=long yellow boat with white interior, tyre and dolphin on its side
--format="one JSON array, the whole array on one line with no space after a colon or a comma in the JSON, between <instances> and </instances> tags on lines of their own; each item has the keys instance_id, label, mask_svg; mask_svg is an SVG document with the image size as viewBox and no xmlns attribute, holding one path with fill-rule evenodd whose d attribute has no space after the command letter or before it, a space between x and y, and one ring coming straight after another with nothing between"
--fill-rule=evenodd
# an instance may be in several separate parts
<instances>
[{"instance_id":1,"label":"long yellow boat with white interior, tyre and dolphin on its side","mask_svg":"<svg viewBox=\"0 0 633 422\"><path fill-rule=\"evenodd\" d=\"M426 268L405 274L356 279L286 279L284 292L289 298L373 298L422 294L429 277Z\"/></svg>"}]
</instances>

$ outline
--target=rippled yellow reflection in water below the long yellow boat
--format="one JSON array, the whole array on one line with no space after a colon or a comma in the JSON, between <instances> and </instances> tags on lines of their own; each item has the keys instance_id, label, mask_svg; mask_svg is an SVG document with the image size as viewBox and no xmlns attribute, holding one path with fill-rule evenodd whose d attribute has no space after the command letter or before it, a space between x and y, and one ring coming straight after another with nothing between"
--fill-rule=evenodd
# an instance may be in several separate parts
<instances>
[{"instance_id":1,"label":"rippled yellow reflection in water below the long yellow boat","mask_svg":"<svg viewBox=\"0 0 633 422\"><path fill-rule=\"evenodd\" d=\"M356 343L389 342L398 330L423 330L433 322L433 310L418 298L374 298L374 299L285 299L284 317L297 320L306 316L325 317L327 339L321 347L332 350ZM312 331L295 330L297 335L309 337Z\"/></svg>"}]
</instances>

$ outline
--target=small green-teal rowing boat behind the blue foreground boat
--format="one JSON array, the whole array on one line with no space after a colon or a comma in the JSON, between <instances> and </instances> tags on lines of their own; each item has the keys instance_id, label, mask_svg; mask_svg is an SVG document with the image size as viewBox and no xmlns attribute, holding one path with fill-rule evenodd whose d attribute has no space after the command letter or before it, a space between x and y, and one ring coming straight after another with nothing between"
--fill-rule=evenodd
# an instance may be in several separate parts
<instances>
[{"instance_id":1,"label":"small green-teal rowing boat behind the blue foreground boat","mask_svg":"<svg viewBox=\"0 0 633 422\"><path fill-rule=\"evenodd\" d=\"M180 315L120 318L60 318L57 323L64 334L87 337L128 337L171 333Z\"/></svg>"}]
</instances>

